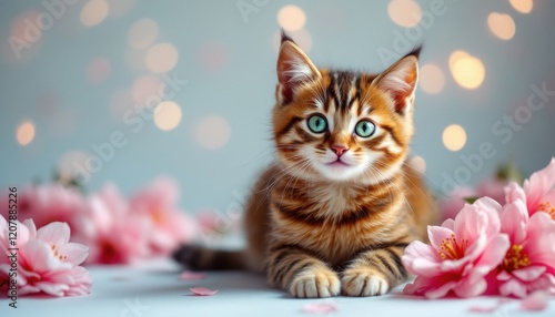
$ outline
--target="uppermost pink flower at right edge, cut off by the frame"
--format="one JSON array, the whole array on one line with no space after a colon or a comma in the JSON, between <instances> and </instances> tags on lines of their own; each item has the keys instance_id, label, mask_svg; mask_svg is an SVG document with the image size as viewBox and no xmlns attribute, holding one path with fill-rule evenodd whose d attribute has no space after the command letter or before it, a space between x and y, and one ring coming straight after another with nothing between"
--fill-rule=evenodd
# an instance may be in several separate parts
<instances>
[{"instance_id":1,"label":"uppermost pink flower at right edge, cut off by the frame","mask_svg":"<svg viewBox=\"0 0 555 317\"><path fill-rule=\"evenodd\" d=\"M507 204L521 200L526 203L529 215L545 212L555 219L555 157L544 170L524 181L523 187L516 183L511 183L506 187Z\"/></svg>"}]
</instances>

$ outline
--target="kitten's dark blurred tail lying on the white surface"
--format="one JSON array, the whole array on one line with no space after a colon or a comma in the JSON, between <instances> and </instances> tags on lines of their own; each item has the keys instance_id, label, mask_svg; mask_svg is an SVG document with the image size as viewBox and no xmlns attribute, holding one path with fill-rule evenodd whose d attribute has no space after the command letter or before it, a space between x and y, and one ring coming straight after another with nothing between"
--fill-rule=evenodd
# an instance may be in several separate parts
<instances>
[{"instance_id":1,"label":"kitten's dark blurred tail lying on the white surface","mask_svg":"<svg viewBox=\"0 0 555 317\"><path fill-rule=\"evenodd\" d=\"M193 270L248 269L244 250L182 245L173 253L173 259Z\"/></svg>"}]
</instances>

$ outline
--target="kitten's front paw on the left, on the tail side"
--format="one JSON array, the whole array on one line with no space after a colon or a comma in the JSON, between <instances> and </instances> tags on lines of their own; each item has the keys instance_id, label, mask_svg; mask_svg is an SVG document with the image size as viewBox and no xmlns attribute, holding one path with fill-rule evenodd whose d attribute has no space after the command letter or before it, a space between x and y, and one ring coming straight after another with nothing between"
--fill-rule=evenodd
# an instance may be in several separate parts
<instances>
[{"instance_id":1,"label":"kitten's front paw on the left, on the tail side","mask_svg":"<svg viewBox=\"0 0 555 317\"><path fill-rule=\"evenodd\" d=\"M291 295L300 298L332 297L341 290L341 282L333 270L309 269L293 277Z\"/></svg>"}]
</instances>

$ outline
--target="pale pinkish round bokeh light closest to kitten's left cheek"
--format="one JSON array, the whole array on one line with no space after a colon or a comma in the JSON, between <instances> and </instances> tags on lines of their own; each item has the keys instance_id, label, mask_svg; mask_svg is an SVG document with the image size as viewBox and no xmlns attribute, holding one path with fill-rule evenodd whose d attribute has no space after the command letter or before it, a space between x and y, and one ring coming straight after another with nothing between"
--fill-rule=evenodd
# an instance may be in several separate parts
<instances>
[{"instance_id":1,"label":"pale pinkish round bokeh light closest to kitten's left cheek","mask_svg":"<svg viewBox=\"0 0 555 317\"><path fill-rule=\"evenodd\" d=\"M196 142L208 150L218 150L231 139L231 127L228 121L220 116L206 116L196 125Z\"/></svg>"}]
</instances>

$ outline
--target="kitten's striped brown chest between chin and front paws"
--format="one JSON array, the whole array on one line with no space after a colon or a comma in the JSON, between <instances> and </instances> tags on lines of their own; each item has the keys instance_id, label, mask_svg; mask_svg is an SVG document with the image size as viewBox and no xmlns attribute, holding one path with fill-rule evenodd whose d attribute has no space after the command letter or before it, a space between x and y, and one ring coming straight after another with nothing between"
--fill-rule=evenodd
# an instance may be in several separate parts
<instances>
[{"instance_id":1,"label":"kitten's striped brown chest between chin and front paws","mask_svg":"<svg viewBox=\"0 0 555 317\"><path fill-rule=\"evenodd\" d=\"M310 190L275 213L279 239L315 250L333 266L381 242L385 222L369 209L366 193L340 186Z\"/></svg>"}]
</instances>

